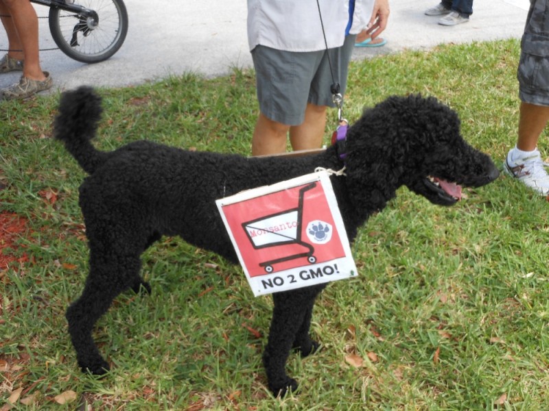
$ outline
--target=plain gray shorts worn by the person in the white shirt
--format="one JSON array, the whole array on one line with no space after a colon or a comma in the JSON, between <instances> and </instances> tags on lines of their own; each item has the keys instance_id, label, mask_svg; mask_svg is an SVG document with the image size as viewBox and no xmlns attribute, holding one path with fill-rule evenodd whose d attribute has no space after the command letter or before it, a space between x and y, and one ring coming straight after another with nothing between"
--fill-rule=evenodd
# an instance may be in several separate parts
<instances>
[{"instance_id":1,"label":"plain gray shorts worn by the person in the white shirt","mask_svg":"<svg viewBox=\"0 0 549 411\"><path fill-rule=\"evenodd\" d=\"M344 95L355 37L345 38L342 47L329 49L334 79ZM281 51L258 45L252 50L257 99L261 114L285 125L303 123L307 103L335 107L331 99L334 83L326 51Z\"/></svg>"}]
</instances>

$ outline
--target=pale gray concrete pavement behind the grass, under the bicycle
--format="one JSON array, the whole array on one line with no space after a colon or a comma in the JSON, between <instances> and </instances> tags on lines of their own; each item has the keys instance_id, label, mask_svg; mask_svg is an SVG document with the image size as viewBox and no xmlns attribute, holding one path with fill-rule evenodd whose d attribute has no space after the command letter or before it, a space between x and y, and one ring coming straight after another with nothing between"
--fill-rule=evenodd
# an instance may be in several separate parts
<instances>
[{"instance_id":1,"label":"pale gray concrete pavement behind the grass, under the bicycle","mask_svg":"<svg viewBox=\"0 0 549 411\"><path fill-rule=\"evenodd\" d=\"M404 49L430 49L448 42L520 38L530 4L529 0L477 0L469 23L445 27L436 23L437 17L423 14L438 0L389 1L391 14L383 34L387 45L355 49L353 59ZM131 86L189 71L213 77L230 73L234 67L252 66L244 0L126 0L126 6L128 36L110 60L82 64L59 50L40 53L43 70L51 73L56 89L82 84ZM316 10L316 3L312 6ZM47 8L36 5L36 10L38 16L47 16ZM41 18L39 24L40 49L56 47L47 18ZM0 49L7 49L3 31ZM17 82L20 75L1 75L0 88Z\"/></svg>"}]
</instances>

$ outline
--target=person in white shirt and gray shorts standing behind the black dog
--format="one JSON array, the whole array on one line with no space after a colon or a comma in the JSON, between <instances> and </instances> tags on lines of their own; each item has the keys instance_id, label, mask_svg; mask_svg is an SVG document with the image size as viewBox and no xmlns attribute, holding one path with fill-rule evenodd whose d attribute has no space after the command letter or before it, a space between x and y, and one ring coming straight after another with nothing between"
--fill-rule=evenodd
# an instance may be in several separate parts
<instances>
[{"instance_id":1,"label":"person in white shirt and gray shorts standing behind the black dog","mask_svg":"<svg viewBox=\"0 0 549 411\"><path fill-rule=\"evenodd\" d=\"M344 94L356 34L367 27L376 38L388 15L388 0L248 0L260 111L253 155L285 152L288 135L294 150L322 146L331 85Z\"/></svg>"}]
</instances>

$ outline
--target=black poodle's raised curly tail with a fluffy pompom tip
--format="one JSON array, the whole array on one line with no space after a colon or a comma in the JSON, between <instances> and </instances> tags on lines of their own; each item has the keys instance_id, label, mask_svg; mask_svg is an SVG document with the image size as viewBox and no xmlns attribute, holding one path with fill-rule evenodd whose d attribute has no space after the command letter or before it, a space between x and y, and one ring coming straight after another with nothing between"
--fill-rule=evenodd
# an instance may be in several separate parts
<instances>
[{"instance_id":1,"label":"black poodle's raised curly tail with a fluffy pompom tip","mask_svg":"<svg viewBox=\"0 0 549 411\"><path fill-rule=\"evenodd\" d=\"M91 87L81 86L61 95L59 114L54 120L54 138L65 143L67 151L89 174L108 158L108 153L91 144L102 111L101 97Z\"/></svg>"}]
</instances>

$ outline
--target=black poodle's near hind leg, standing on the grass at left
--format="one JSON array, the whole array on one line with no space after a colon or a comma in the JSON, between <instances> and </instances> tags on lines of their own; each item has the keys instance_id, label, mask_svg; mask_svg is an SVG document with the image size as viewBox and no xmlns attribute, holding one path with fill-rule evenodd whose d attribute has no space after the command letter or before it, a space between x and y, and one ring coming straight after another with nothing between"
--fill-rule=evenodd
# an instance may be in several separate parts
<instances>
[{"instance_id":1,"label":"black poodle's near hind leg, standing on the grass at left","mask_svg":"<svg viewBox=\"0 0 549 411\"><path fill-rule=\"evenodd\" d=\"M67 309L69 334L82 371L102 375L109 370L92 337L93 326L113 299L134 285L141 261L136 256L102 256L91 253L90 273L80 298Z\"/></svg>"}]
</instances>

